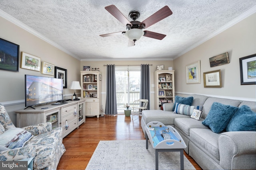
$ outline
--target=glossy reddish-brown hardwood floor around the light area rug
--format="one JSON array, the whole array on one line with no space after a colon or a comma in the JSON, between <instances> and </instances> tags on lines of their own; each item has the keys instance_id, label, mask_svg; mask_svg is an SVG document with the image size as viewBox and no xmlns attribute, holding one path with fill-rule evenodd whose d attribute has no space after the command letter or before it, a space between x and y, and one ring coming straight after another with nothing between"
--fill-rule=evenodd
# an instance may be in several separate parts
<instances>
[{"instance_id":1,"label":"glossy reddish-brown hardwood floor around the light area rug","mask_svg":"<svg viewBox=\"0 0 256 170\"><path fill-rule=\"evenodd\" d=\"M86 117L86 123L80 125L64 137L66 152L62 155L57 170L85 170L94 150L100 141L141 140L145 139L138 116L125 115ZM196 162L184 152L196 170L202 170Z\"/></svg>"}]
</instances>

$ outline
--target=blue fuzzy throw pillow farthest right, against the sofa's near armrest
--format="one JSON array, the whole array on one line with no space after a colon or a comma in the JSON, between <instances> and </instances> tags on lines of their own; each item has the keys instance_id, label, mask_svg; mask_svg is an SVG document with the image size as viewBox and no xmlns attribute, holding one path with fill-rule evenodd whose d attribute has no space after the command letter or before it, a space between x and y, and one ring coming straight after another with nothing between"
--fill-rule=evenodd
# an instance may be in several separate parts
<instances>
[{"instance_id":1,"label":"blue fuzzy throw pillow farthest right, against the sofa's near armrest","mask_svg":"<svg viewBox=\"0 0 256 170\"><path fill-rule=\"evenodd\" d=\"M249 106L239 107L228 123L226 131L256 131L256 113Z\"/></svg>"}]
</instances>

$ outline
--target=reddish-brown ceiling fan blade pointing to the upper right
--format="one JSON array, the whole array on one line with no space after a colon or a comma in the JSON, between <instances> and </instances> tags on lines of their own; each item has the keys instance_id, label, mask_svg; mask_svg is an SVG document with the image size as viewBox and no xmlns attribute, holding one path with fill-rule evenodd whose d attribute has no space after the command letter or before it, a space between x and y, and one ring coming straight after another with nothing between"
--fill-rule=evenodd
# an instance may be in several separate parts
<instances>
[{"instance_id":1,"label":"reddish-brown ceiling fan blade pointing to the upper right","mask_svg":"<svg viewBox=\"0 0 256 170\"><path fill-rule=\"evenodd\" d=\"M163 20L164 18L172 15L172 11L168 6L164 6L159 11L154 13L152 16L148 17L146 20L142 21L140 25L144 24L145 28L150 27L154 23Z\"/></svg>"}]
</instances>

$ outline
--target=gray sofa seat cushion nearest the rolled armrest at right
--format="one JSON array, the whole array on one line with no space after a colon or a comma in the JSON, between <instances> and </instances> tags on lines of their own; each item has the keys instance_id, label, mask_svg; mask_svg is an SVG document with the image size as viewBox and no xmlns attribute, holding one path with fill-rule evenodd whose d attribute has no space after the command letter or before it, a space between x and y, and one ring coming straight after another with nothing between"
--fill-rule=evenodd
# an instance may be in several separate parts
<instances>
[{"instance_id":1,"label":"gray sofa seat cushion nearest the rolled armrest at right","mask_svg":"<svg viewBox=\"0 0 256 170\"><path fill-rule=\"evenodd\" d=\"M190 139L203 147L209 156L220 160L218 138L219 134L212 132L211 129L190 129Z\"/></svg>"}]
</instances>

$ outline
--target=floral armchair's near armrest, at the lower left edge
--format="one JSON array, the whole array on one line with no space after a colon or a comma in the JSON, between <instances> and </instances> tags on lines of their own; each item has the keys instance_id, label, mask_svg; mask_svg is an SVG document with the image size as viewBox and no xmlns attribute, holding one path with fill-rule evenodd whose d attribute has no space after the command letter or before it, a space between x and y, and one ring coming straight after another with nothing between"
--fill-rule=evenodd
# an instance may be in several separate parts
<instances>
[{"instance_id":1,"label":"floral armchair's near armrest, at the lower left edge","mask_svg":"<svg viewBox=\"0 0 256 170\"><path fill-rule=\"evenodd\" d=\"M34 158L36 156L35 147L20 147L0 152L0 161L15 161L26 158Z\"/></svg>"}]
</instances>

